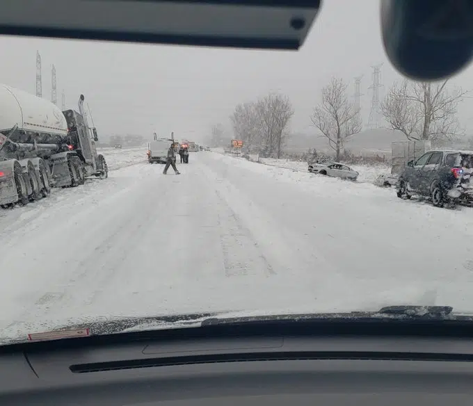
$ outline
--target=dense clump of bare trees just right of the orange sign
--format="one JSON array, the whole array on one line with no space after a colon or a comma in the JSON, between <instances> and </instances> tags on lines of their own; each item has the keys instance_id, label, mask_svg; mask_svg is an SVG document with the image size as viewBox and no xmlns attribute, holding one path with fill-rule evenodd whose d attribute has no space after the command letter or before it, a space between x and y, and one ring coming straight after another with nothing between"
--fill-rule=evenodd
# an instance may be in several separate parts
<instances>
[{"instance_id":1,"label":"dense clump of bare trees just right of the orange sign","mask_svg":"<svg viewBox=\"0 0 473 406\"><path fill-rule=\"evenodd\" d=\"M271 93L257 101L239 104L230 116L235 138L248 152L280 158L294 114L289 97Z\"/></svg>"}]
</instances>

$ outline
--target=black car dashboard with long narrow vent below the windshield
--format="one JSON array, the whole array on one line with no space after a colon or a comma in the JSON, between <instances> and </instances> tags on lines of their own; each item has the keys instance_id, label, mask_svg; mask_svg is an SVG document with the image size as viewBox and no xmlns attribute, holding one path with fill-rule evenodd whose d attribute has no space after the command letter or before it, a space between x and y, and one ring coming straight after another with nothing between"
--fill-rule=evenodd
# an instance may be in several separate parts
<instances>
[{"instance_id":1,"label":"black car dashboard with long narrow vent below the windshield","mask_svg":"<svg viewBox=\"0 0 473 406\"><path fill-rule=\"evenodd\" d=\"M1 348L0 405L470 405L472 328L428 336L447 327L332 320L17 344Z\"/></svg>"}]
</instances>

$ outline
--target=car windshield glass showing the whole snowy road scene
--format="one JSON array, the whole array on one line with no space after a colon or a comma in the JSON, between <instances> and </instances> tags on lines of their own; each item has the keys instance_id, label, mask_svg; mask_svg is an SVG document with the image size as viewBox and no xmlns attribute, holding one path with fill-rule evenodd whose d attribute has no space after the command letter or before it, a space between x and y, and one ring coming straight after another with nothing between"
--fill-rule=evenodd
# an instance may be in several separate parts
<instances>
[{"instance_id":1,"label":"car windshield glass showing the whole snowy road scene","mask_svg":"<svg viewBox=\"0 0 473 406\"><path fill-rule=\"evenodd\" d=\"M297 52L0 47L2 342L123 317L473 311L473 68L404 79L378 1L326 1Z\"/></svg>"}]
</instances>

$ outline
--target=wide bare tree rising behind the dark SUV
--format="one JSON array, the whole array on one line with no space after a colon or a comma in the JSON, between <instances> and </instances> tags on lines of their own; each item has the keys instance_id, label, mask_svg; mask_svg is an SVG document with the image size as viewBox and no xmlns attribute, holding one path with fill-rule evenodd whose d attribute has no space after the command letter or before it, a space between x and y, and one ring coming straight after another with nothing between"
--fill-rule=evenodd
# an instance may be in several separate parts
<instances>
[{"instance_id":1,"label":"wide bare tree rising behind the dark SUV","mask_svg":"<svg viewBox=\"0 0 473 406\"><path fill-rule=\"evenodd\" d=\"M390 128L403 132L408 139L431 140L436 144L462 136L464 131L456 113L467 92L449 91L447 82L404 79L394 83L381 104Z\"/></svg>"}]
</instances>

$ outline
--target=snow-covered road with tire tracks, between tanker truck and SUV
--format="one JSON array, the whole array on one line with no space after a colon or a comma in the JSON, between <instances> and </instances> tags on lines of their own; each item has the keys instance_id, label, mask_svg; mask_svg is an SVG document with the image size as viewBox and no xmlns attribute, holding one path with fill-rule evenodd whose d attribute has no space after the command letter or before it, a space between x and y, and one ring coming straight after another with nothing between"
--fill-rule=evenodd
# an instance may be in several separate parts
<instances>
[{"instance_id":1,"label":"snow-covered road with tire tracks, between tanker truck and SUV","mask_svg":"<svg viewBox=\"0 0 473 406\"><path fill-rule=\"evenodd\" d=\"M211 152L163 176L144 155L113 152L109 179L0 212L2 336L103 316L473 308L471 209Z\"/></svg>"}]
</instances>

